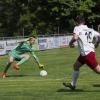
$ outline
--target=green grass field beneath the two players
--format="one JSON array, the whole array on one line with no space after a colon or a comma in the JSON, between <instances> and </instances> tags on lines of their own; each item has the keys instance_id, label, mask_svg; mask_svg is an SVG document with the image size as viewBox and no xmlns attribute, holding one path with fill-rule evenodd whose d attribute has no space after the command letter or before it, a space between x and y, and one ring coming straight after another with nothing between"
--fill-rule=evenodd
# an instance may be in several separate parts
<instances>
[{"instance_id":1,"label":"green grass field beneath the two players","mask_svg":"<svg viewBox=\"0 0 100 100\"><path fill-rule=\"evenodd\" d=\"M100 48L96 50L100 61ZM48 72L39 76L36 63L30 59L19 71L11 68L7 77L0 77L0 100L100 100L100 75L86 65L80 70L76 91L63 87L70 82L72 66L78 56L76 48L61 48L36 52ZM0 57L0 73L7 62L7 56Z\"/></svg>"}]
</instances>

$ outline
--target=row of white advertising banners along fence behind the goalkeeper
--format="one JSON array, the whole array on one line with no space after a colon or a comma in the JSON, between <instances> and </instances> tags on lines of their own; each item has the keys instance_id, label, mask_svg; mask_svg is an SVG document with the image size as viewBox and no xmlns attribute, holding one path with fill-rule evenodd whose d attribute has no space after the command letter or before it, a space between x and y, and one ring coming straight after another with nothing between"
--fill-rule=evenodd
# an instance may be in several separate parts
<instances>
[{"instance_id":1,"label":"row of white advertising banners along fence behind the goalkeeper","mask_svg":"<svg viewBox=\"0 0 100 100\"><path fill-rule=\"evenodd\" d=\"M36 51L68 47L71 38L72 36L39 37L33 45L33 48ZM0 55L6 54L25 40L27 40L27 38L0 41ZM75 45L77 45L77 42L75 42Z\"/></svg>"}]
</instances>

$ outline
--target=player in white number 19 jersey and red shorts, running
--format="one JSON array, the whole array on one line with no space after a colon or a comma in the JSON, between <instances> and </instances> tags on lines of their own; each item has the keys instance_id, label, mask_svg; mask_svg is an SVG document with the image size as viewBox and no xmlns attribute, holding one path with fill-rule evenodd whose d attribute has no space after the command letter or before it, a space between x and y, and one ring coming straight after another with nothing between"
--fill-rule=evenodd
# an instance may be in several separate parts
<instances>
[{"instance_id":1,"label":"player in white number 19 jersey and red shorts, running","mask_svg":"<svg viewBox=\"0 0 100 100\"><path fill-rule=\"evenodd\" d=\"M100 36L100 34L85 25L84 17L77 16L76 21L78 25L74 28L73 37L69 43L69 46L71 47L71 45L77 41L80 55L73 65L74 71L72 72L71 83L63 83L65 87L69 87L71 90L74 90L76 87L79 70L82 65L87 64L92 70L100 74L100 65L96 60L94 50L95 47L92 43L93 38L95 36Z\"/></svg>"}]
</instances>

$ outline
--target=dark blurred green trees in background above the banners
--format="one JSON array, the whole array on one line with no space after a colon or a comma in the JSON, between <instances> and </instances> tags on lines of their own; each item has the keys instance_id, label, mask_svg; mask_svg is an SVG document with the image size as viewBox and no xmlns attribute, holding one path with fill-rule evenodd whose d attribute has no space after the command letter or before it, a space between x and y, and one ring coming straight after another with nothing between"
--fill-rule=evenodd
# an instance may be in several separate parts
<instances>
[{"instance_id":1,"label":"dark blurred green trees in background above the banners","mask_svg":"<svg viewBox=\"0 0 100 100\"><path fill-rule=\"evenodd\" d=\"M100 0L0 0L0 36L68 34L77 15L97 30Z\"/></svg>"}]
</instances>

